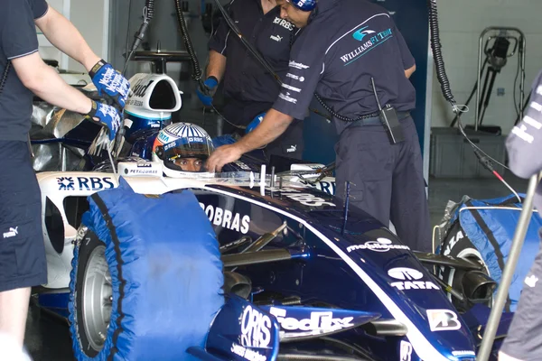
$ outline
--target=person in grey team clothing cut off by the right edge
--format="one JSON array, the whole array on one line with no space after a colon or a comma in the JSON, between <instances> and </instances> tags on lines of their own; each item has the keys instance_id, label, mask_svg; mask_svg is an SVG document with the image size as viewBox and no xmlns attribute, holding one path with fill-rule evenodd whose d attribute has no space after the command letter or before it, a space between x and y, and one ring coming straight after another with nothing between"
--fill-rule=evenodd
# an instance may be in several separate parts
<instances>
[{"instance_id":1,"label":"person in grey team clothing cut off by the right edge","mask_svg":"<svg viewBox=\"0 0 542 361\"><path fill-rule=\"evenodd\" d=\"M506 140L509 168L519 178L529 179L542 171L542 71L533 83L526 115L514 126ZM542 186L538 184L534 207L542 212ZM542 229L538 231L541 236ZM500 347L500 361L538 360L542 355L542 248L525 278L518 308Z\"/></svg>"}]
</instances>

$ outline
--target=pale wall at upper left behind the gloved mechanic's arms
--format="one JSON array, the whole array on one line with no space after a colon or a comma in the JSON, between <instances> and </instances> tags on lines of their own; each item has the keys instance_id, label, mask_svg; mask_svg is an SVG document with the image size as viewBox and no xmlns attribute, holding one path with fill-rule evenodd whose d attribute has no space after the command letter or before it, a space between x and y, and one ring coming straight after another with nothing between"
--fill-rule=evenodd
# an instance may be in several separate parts
<instances>
[{"instance_id":1,"label":"pale wall at upper left behind the gloved mechanic's arms","mask_svg":"<svg viewBox=\"0 0 542 361\"><path fill-rule=\"evenodd\" d=\"M90 49L99 57L107 59L109 0L92 0L92 6L86 0L48 0L49 5L70 19L79 30ZM43 35L39 35L40 54L43 59L61 62L61 69L86 72L79 62L62 55L52 47Z\"/></svg>"}]
</instances>

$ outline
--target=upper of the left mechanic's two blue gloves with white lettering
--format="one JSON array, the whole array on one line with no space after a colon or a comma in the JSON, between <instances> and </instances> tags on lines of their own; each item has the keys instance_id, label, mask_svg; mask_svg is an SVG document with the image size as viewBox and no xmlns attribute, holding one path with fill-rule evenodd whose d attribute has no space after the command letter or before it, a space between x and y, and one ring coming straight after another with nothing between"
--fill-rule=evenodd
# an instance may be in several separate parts
<instances>
[{"instance_id":1,"label":"upper of the left mechanic's two blue gloves with white lettering","mask_svg":"<svg viewBox=\"0 0 542 361\"><path fill-rule=\"evenodd\" d=\"M102 59L90 69L89 76L98 89L99 96L107 94L118 103L121 109L124 109L130 83L119 71Z\"/></svg>"}]
</instances>

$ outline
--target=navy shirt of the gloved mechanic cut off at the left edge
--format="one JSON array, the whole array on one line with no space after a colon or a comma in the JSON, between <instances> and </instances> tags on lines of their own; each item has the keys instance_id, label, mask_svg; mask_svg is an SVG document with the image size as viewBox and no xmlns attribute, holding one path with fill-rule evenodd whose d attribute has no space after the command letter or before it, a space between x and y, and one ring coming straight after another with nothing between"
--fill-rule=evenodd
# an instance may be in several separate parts
<instances>
[{"instance_id":1,"label":"navy shirt of the gloved mechanic cut off at the left edge","mask_svg":"<svg viewBox=\"0 0 542 361\"><path fill-rule=\"evenodd\" d=\"M34 20L47 13L45 0L2 0L0 11L0 77L8 60L38 51ZM33 93L23 86L12 65L0 95L0 140L28 140Z\"/></svg>"}]
</instances>

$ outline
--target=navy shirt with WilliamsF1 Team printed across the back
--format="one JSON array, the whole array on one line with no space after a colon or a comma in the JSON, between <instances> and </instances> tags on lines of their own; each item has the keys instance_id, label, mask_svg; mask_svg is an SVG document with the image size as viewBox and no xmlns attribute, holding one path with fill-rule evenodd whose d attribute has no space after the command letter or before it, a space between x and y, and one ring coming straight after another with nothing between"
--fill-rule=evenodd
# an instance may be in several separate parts
<instances>
[{"instance_id":1,"label":"navy shirt with WilliamsF1 Team printed across the back","mask_svg":"<svg viewBox=\"0 0 542 361\"><path fill-rule=\"evenodd\" d=\"M416 106L416 90L405 70L415 60L388 11L365 0L320 0L291 51L289 70L273 106L304 118L316 92L334 112L350 119L378 111ZM338 133L348 125L338 119Z\"/></svg>"}]
</instances>

